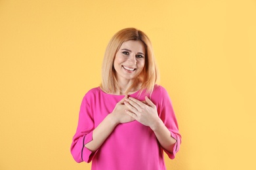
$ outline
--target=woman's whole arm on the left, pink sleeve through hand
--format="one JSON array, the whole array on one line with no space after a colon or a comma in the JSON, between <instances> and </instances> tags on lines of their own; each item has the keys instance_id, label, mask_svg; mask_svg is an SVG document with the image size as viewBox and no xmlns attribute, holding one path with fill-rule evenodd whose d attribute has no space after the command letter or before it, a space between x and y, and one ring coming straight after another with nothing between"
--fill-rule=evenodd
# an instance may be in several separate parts
<instances>
[{"instance_id":1,"label":"woman's whole arm on the left, pink sleeve through hand","mask_svg":"<svg viewBox=\"0 0 256 170\"><path fill-rule=\"evenodd\" d=\"M131 122L134 119L125 114L125 105L123 105L124 97L116 104L112 113L108 114L106 118L95 128L93 120L93 110L84 98L81 103L79 112L79 121L77 131L73 137L71 145L71 153L75 161L90 162L95 156L97 149L112 133L114 128L119 123Z\"/></svg>"}]
</instances>

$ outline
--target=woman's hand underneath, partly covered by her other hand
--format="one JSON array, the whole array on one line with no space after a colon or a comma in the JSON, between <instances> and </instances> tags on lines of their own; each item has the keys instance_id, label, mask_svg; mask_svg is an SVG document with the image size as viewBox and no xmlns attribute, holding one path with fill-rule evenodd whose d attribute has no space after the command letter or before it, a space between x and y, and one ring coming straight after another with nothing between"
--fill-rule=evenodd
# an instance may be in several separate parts
<instances>
[{"instance_id":1,"label":"woman's hand underneath, partly covered by her other hand","mask_svg":"<svg viewBox=\"0 0 256 170\"><path fill-rule=\"evenodd\" d=\"M119 101L116 104L115 109L111 113L112 118L116 124L128 123L128 122L132 122L135 120L135 118L133 118L125 113L125 110L129 110L129 108L127 108L124 105L124 101L127 98L128 98L128 96L125 95L125 97L123 97L123 99L121 99L121 101Z\"/></svg>"}]
</instances>

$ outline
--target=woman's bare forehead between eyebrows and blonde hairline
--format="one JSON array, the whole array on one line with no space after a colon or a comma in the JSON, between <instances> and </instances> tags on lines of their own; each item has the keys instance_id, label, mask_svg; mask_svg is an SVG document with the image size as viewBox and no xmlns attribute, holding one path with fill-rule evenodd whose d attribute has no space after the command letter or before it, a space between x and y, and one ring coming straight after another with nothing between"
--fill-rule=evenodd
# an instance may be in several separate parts
<instances>
[{"instance_id":1,"label":"woman's bare forehead between eyebrows and blonde hairline","mask_svg":"<svg viewBox=\"0 0 256 170\"><path fill-rule=\"evenodd\" d=\"M119 50L122 50L123 48L131 50L133 52L145 52L144 43L141 41L125 41L123 44L121 44Z\"/></svg>"}]
</instances>

